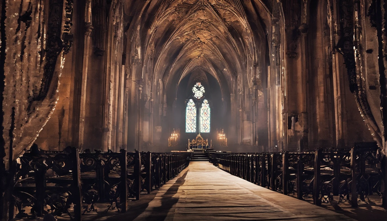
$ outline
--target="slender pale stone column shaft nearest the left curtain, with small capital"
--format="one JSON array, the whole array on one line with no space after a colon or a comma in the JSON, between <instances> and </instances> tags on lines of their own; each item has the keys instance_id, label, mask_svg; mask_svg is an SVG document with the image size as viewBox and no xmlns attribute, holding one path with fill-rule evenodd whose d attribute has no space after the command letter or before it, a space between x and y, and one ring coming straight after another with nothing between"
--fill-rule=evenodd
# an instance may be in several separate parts
<instances>
[{"instance_id":1,"label":"slender pale stone column shaft nearest the left curtain, with small capital","mask_svg":"<svg viewBox=\"0 0 387 221\"><path fill-rule=\"evenodd\" d=\"M85 11L85 39L84 39L84 50L83 50L82 81L81 81L80 106L79 106L79 138L78 138L79 149L82 149L84 144L87 72L89 67L90 34L91 34L91 31L93 30L93 26L91 22L92 22L91 0L88 0L86 2L86 11Z\"/></svg>"}]
</instances>

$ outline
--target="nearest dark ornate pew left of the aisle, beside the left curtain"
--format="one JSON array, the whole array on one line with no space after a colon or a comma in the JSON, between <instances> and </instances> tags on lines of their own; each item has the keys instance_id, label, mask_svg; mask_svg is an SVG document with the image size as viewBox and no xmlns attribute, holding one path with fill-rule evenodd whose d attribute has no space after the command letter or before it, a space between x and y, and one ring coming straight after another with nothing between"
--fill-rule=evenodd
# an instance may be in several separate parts
<instances>
[{"instance_id":1,"label":"nearest dark ornate pew left of the aisle, beside the left curtain","mask_svg":"<svg viewBox=\"0 0 387 221\"><path fill-rule=\"evenodd\" d=\"M35 200L33 202L31 212L33 214L30 217L43 216L46 211L43 210L45 206L50 206L53 214L68 213L70 204L74 204L74 215L70 217L73 220L81 220L82 210L82 197L81 197L81 186L80 186L80 164L79 164L79 151L75 147L71 148L71 153L65 152L33 152L25 153L20 158L21 166L19 168L17 179L19 177L29 176L29 178L20 179L17 181L14 194L18 195L20 202L17 203L19 213L17 217L25 216L22 215L23 202L26 202L24 197ZM67 183L57 185L52 182L52 175L47 173L48 170L53 171L58 176L70 177ZM30 173L29 171L33 171ZM33 182L31 182L33 181ZM28 192L30 194L28 195ZM68 195L67 192L71 194ZM23 194L24 193L24 194ZM52 198L52 194L63 195L63 198ZM32 196L32 197L30 197ZM51 198L47 198L51 196ZM23 199L24 198L24 199ZM63 204L60 199L66 199ZM46 203L45 203L46 202ZM58 206L61 205L61 206ZM69 213L68 213L69 214ZM70 215L70 214L69 214Z\"/></svg>"}]
</instances>

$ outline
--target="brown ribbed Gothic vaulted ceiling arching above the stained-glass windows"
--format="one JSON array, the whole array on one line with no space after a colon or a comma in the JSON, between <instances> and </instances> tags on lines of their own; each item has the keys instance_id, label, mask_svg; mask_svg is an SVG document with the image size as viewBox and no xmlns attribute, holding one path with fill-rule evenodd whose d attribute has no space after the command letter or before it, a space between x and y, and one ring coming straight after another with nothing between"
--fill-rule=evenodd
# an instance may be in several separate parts
<instances>
[{"instance_id":1,"label":"brown ribbed Gothic vaulted ceiling arching above the stained-glass windows","mask_svg":"<svg viewBox=\"0 0 387 221\"><path fill-rule=\"evenodd\" d=\"M172 93L197 69L223 93L251 86L253 66L267 53L271 12L258 0L138 0L125 14L128 54L144 67L137 74L149 74L153 86L161 79Z\"/></svg>"}]
</instances>

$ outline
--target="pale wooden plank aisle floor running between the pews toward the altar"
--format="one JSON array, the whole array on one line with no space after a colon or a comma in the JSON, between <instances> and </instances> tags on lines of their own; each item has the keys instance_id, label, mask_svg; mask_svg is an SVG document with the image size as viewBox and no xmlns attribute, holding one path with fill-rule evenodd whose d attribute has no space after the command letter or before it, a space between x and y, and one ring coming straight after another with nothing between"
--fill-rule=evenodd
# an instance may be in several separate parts
<instances>
[{"instance_id":1,"label":"pale wooden plank aisle floor running between the pews toward the altar","mask_svg":"<svg viewBox=\"0 0 387 221\"><path fill-rule=\"evenodd\" d=\"M134 220L354 219L273 192L230 175L211 163L199 161L191 162L188 168L161 187L145 211Z\"/></svg>"}]
</instances>

